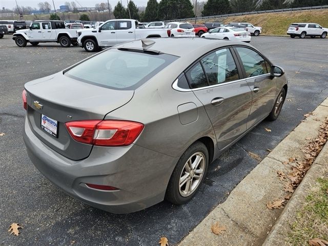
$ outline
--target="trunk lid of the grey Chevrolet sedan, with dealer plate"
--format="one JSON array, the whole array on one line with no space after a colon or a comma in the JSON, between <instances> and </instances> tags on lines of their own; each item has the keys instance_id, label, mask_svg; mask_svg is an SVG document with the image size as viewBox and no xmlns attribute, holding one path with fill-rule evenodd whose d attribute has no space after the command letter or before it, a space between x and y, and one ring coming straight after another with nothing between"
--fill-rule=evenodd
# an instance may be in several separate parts
<instances>
[{"instance_id":1,"label":"trunk lid of the grey Chevrolet sedan, with dealer plate","mask_svg":"<svg viewBox=\"0 0 328 246\"><path fill-rule=\"evenodd\" d=\"M125 105L133 90L99 87L57 73L25 84L27 120L34 134L48 147L73 160L89 156L92 145L75 141L65 123L103 119Z\"/></svg>"}]
</instances>

